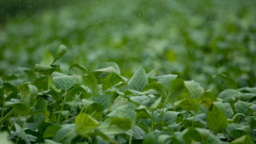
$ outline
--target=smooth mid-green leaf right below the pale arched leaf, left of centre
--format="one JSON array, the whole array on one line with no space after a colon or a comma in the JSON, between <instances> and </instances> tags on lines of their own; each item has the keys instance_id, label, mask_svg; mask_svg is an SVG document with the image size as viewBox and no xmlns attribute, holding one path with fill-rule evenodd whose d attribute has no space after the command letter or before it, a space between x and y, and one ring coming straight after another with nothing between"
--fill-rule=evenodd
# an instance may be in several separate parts
<instances>
[{"instance_id":1,"label":"smooth mid-green leaf right below the pale arched leaf, left of centre","mask_svg":"<svg viewBox=\"0 0 256 144\"><path fill-rule=\"evenodd\" d=\"M123 79L117 74L111 73L108 74L107 77L102 82L102 92L116 85L117 83L123 81Z\"/></svg>"}]
</instances>

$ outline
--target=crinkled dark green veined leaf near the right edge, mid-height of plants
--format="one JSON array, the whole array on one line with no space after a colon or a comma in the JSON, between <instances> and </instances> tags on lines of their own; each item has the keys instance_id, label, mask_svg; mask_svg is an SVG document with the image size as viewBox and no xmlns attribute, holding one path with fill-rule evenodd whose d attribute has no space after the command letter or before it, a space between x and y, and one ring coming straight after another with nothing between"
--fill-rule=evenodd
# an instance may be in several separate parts
<instances>
[{"instance_id":1,"label":"crinkled dark green veined leaf near the right edge, mid-height of plants","mask_svg":"<svg viewBox=\"0 0 256 144\"><path fill-rule=\"evenodd\" d=\"M249 114L249 112L248 112L248 108L251 107L251 106L255 106L255 104L238 100L238 101L234 104L234 109L235 109L238 113L244 114L246 117L248 117L248 116L250 116L250 114Z\"/></svg>"}]
</instances>

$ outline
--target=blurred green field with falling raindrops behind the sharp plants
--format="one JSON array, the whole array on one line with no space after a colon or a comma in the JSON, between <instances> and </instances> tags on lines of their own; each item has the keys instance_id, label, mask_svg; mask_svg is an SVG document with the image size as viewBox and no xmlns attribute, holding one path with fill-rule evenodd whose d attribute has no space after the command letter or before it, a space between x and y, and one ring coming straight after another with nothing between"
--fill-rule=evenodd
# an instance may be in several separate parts
<instances>
[{"instance_id":1,"label":"blurred green field with falling raindrops behind the sharp plants","mask_svg":"<svg viewBox=\"0 0 256 144\"><path fill-rule=\"evenodd\" d=\"M0 0L0 77L29 81L24 71L52 62L59 45L68 52L56 64L64 74L116 62L131 78L142 65L159 75L178 74L216 93L254 87L255 0ZM27 69L27 68L30 69ZM82 74L82 73L81 73ZM25 78L24 78L25 77ZM33 81L33 80L32 80Z\"/></svg>"}]
</instances>

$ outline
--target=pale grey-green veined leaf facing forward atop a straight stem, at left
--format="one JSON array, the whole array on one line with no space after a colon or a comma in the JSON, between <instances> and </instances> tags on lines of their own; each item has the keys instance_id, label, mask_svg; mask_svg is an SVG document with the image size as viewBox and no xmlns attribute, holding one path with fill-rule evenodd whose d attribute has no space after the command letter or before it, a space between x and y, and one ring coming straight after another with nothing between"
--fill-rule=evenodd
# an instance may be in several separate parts
<instances>
[{"instance_id":1,"label":"pale grey-green veined leaf facing forward atop a straight stem, at left","mask_svg":"<svg viewBox=\"0 0 256 144\"><path fill-rule=\"evenodd\" d=\"M53 77L53 83L65 91L69 90L76 83L75 76L58 76Z\"/></svg>"}]
</instances>

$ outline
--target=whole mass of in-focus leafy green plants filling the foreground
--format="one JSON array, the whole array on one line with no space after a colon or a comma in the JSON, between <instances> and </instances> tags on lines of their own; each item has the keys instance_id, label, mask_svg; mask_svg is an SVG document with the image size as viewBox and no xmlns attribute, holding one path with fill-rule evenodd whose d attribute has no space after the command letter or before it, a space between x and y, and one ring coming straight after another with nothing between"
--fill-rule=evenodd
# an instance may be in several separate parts
<instances>
[{"instance_id":1,"label":"whole mass of in-focus leafy green plants filling the foreground","mask_svg":"<svg viewBox=\"0 0 256 144\"><path fill-rule=\"evenodd\" d=\"M0 78L1 142L253 144L256 88L226 89L216 95L196 81L158 76L142 66L128 81L115 62L96 70L74 63L84 74L57 72L67 52L60 45L49 65L24 73L34 82ZM16 83L14 83L16 82Z\"/></svg>"}]
</instances>

